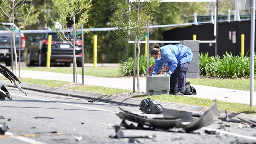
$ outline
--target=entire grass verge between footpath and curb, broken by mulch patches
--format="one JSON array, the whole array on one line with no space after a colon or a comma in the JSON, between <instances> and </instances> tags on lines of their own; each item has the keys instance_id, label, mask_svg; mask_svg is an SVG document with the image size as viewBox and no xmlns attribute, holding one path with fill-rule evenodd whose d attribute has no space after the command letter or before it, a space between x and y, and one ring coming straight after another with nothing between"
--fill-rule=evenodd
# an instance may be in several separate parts
<instances>
[{"instance_id":1,"label":"entire grass verge between footpath and curb, broken by mulch patches","mask_svg":"<svg viewBox=\"0 0 256 144\"><path fill-rule=\"evenodd\" d=\"M0 76L0 78L6 79L3 76ZM22 83L46 85L48 87L60 87L61 85L70 83L67 81L54 81L54 80L31 79L31 78L20 78L20 81L22 81ZM91 85L70 87L69 89L89 91L89 92L98 92L98 93L107 94L107 95L124 93L124 92L132 92L130 90L114 89L114 88L91 86ZM165 102L182 103L182 104L188 104L188 105L197 105L197 106L201 106L201 107L210 107L210 105L213 103L213 100L194 98L194 97L188 97L188 96L157 95L157 96L141 96L141 97L137 97L137 98L140 98L140 99L151 98L153 100L161 100L161 101L165 101ZM218 101L218 109L233 111L236 113L256 114L256 106L249 107L249 105L241 104L241 103Z\"/></svg>"}]
</instances>

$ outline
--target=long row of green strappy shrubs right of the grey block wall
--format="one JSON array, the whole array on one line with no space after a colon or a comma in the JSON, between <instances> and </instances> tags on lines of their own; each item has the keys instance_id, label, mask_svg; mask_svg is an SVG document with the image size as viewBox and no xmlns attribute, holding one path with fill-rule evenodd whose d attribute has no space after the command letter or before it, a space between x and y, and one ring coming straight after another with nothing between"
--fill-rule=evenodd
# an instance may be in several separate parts
<instances>
[{"instance_id":1,"label":"long row of green strappy shrubs right of the grey block wall","mask_svg":"<svg viewBox=\"0 0 256 144\"><path fill-rule=\"evenodd\" d=\"M256 58L254 59L254 63ZM200 74L204 76L218 78L249 78L250 74L250 57L233 56L231 53L219 56L208 57L208 53L200 54L199 58ZM254 66L256 67L256 66ZM254 68L254 72L255 72Z\"/></svg>"}]
</instances>

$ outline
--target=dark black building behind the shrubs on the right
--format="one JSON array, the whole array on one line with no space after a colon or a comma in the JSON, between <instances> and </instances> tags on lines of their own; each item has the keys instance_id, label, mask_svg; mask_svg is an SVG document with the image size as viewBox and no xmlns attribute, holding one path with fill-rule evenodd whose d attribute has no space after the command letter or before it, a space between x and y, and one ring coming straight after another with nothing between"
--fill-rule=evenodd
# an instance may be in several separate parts
<instances>
[{"instance_id":1,"label":"dark black building behind the shrubs on the right","mask_svg":"<svg viewBox=\"0 0 256 144\"><path fill-rule=\"evenodd\" d=\"M215 40L213 33L214 24L192 25L163 32L163 40L192 40L195 34L197 40L210 41ZM233 55L240 55L241 34L245 35L245 54L247 54L250 50L250 20L218 24L218 55L222 57L226 51ZM215 55L215 43L200 43L200 52ZM249 53L248 56L250 56Z\"/></svg>"}]
</instances>

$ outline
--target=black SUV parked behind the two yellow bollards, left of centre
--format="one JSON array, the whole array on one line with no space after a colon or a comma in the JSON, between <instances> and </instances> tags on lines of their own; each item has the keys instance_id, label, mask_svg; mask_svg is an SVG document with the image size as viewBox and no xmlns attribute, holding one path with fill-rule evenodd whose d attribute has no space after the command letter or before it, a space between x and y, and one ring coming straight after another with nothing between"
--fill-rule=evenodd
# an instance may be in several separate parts
<instances>
[{"instance_id":1,"label":"black SUV parked behind the two yellow bollards, left of centre","mask_svg":"<svg viewBox=\"0 0 256 144\"><path fill-rule=\"evenodd\" d=\"M64 63L70 66L73 62L73 47L67 41L61 41L57 33L41 33L35 37L28 37L27 65L46 66L48 35L52 35L51 63ZM71 36L71 37L70 37ZM73 42L72 35L69 35L70 42ZM76 38L76 63L82 66L82 40Z\"/></svg>"}]
</instances>

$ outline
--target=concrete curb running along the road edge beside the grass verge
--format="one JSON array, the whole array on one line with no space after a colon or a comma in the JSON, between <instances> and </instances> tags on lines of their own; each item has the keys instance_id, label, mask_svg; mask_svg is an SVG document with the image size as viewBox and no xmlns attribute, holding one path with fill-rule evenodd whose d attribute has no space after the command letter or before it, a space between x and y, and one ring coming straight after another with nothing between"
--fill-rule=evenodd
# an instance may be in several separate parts
<instances>
[{"instance_id":1,"label":"concrete curb running along the road edge beside the grass verge","mask_svg":"<svg viewBox=\"0 0 256 144\"><path fill-rule=\"evenodd\" d=\"M15 87L13 83L6 80L0 80L0 83L3 85L6 85L8 87ZM39 92L46 92L51 94L58 94L62 96L71 96L71 97L78 97L78 98L85 98L85 99L92 99L92 100L99 100L103 102L111 102L111 103L118 103L123 105L132 105L132 106L139 106L141 103L141 99L138 98L128 98L124 96L113 96L113 95L104 95L101 93L96 92L86 92L86 91L80 91L80 90L69 90L69 89L63 89L58 87L48 87L44 85L35 85L30 83L21 83L20 87L22 89L27 90L35 90ZM163 101L157 101L159 104L161 104L166 109L178 109L181 111L191 111L193 113L202 113L206 110L206 107L198 107L193 105L186 105L186 104L180 104L180 103L171 103L171 102L163 102ZM241 122L237 117L241 117L245 120L253 120L256 121L256 115L252 114L244 114L244 113L233 113L233 112L227 112L229 118L232 118L235 122ZM224 111L221 111L220 118L222 120L226 119L226 114Z\"/></svg>"}]
</instances>

